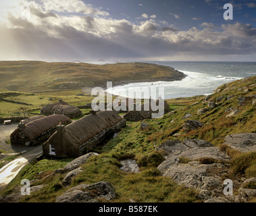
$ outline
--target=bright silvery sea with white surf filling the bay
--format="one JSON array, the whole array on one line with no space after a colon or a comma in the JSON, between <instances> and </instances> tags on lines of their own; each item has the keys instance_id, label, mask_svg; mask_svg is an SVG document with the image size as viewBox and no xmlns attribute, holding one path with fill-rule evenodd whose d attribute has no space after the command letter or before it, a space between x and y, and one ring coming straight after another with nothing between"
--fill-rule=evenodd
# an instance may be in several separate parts
<instances>
[{"instance_id":1,"label":"bright silvery sea with white surf filling the bay","mask_svg":"<svg viewBox=\"0 0 256 216\"><path fill-rule=\"evenodd\" d=\"M134 62L134 61L119 61ZM108 88L107 92L124 97L129 96L129 91L138 92L140 89L156 89L152 95L160 95L162 99L174 99L178 97L193 97L196 95L211 94L215 88L239 80L256 76L256 62L213 62L213 61L140 61L170 66L186 74L180 81L174 82L136 82L123 86ZM111 61L96 61L88 63L116 63ZM147 78L145 78L147 79ZM161 90L160 90L161 89ZM152 90L153 92L153 90ZM161 92L161 94L160 94ZM140 96L137 96L138 98ZM142 95L140 98L143 98Z\"/></svg>"}]
</instances>

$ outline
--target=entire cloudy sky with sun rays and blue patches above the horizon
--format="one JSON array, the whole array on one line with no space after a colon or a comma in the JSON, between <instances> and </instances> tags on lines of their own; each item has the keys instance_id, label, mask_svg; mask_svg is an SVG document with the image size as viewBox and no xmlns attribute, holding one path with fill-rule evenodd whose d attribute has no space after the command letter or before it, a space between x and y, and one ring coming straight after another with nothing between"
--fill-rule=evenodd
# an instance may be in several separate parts
<instances>
[{"instance_id":1,"label":"entire cloudy sky with sun rays and blue patches above the horizon","mask_svg":"<svg viewBox=\"0 0 256 216\"><path fill-rule=\"evenodd\" d=\"M0 60L256 61L256 0L0 0L0 32Z\"/></svg>"}]
</instances>

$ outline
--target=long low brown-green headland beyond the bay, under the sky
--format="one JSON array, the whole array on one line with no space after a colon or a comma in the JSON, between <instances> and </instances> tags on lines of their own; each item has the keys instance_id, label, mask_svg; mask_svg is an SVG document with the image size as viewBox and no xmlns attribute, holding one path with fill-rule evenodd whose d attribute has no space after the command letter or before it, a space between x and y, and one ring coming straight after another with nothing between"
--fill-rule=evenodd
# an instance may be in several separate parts
<instances>
[{"instance_id":1,"label":"long low brown-green headland beyond the bay, under the sky","mask_svg":"<svg viewBox=\"0 0 256 216\"><path fill-rule=\"evenodd\" d=\"M168 66L151 63L90 63L0 61L0 85L7 90L45 92L74 90L128 82L181 80L185 75Z\"/></svg>"}]
</instances>

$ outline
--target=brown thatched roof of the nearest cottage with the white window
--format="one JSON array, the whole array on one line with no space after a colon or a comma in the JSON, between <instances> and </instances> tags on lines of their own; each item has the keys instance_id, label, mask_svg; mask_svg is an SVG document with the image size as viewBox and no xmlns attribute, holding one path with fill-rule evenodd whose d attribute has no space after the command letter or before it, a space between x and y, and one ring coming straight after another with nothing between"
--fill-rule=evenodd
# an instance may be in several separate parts
<instances>
[{"instance_id":1,"label":"brown thatched roof of the nearest cottage with the white window","mask_svg":"<svg viewBox=\"0 0 256 216\"><path fill-rule=\"evenodd\" d=\"M70 144L78 147L80 144L100 134L103 130L114 126L119 121L122 121L122 117L116 111L100 111L95 115L86 115L66 126L63 138L66 142L70 142ZM57 138L55 137L56 135L57 132L49 138L49 142Z\"/></svg>"}]
</instances>

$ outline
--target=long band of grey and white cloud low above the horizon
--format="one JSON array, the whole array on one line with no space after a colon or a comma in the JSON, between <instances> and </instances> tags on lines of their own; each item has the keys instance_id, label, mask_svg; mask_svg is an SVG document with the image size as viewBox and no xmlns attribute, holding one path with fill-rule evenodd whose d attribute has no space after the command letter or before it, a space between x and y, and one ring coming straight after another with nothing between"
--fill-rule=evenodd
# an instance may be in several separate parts
<instances>
[{"instance_id":1,"label":"long band of grey and white cloud low above the horizon","mask_svg":"<svg viewBox=\"0 0 256 216\"><path fill-rule=\"evenodd\" d=\"M159 27L155 20L134 24L93 15L66 16L53 14L40 5L34 5L31 11L30 20L9 14L8 23L0 26L0 59L89 61L256 55L256 28L251 24L216 26L203 22L202 29L182 31L170 25Z\"/></svg>"}]
</instances>

